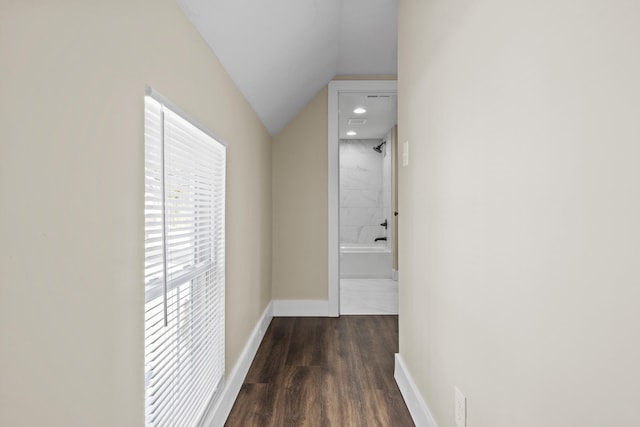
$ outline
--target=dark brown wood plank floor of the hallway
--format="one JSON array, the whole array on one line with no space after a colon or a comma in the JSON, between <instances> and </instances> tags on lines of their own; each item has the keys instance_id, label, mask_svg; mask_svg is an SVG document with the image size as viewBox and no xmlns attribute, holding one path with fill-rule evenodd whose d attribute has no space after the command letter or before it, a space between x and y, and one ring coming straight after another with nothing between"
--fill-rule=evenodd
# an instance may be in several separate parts
<instances>
[{"instance_id":1,"label":"dark brown wood plank floor of the hallway","mask_svg":"<svg viewBox=\"0 0 640 427\"><path fill-rule=\"evenodd\" d=\"M274 318L226 426L413 426L397 351L397 316Z\"/></svg>"}]
</instances>

